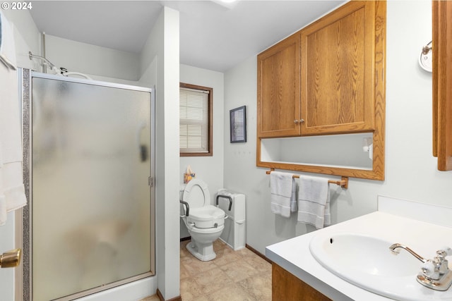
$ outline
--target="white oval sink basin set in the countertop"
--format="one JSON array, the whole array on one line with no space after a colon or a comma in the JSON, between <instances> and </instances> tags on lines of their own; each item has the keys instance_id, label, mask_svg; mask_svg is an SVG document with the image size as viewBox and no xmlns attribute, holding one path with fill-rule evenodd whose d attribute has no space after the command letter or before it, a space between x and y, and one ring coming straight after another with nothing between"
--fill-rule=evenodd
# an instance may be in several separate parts
<instances>
[{"instance_id":1,"label":"white oval sink basin set in the countertop","mask_svg":"<svg viewBox=\"0 0 452 301\"><path fill-rule=\"evenodd\" d=\"M396 242L358 233L323 233L312 238L309 251L328 271L372 293L403 301L452 300L450 289L439 292L417 283L422 263L405 250L393 254L389 247Z\"/></svg>"}]
</instances>

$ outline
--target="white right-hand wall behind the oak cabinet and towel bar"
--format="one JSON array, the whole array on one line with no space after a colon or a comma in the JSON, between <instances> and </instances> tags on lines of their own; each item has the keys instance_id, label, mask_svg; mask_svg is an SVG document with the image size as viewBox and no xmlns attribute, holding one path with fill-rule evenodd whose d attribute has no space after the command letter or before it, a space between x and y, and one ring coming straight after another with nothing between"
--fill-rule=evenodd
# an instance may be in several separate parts
<instances>
[{"instance_id":1,"label":"white right-hand wall behind the oak cabinet and towel bar","mask_svg":"<svg viewBox=\"0 0 452 301\"><path fill-rule=\"evenodd\" d=\"M333 223L376 210L377 195L452 207L452 172L436 169L432 156L432 74L417 63L432 39L431 1L388 1L386 47L386 180L350 178L332 186ZM225 120L225 187L246 194L246 242L266 245L314 231L270 213L269 177L256 167L256 56L225 73L225 116L246 104L248 141L228 142ZM320 175L319 175L320 176Z\"/></svg>"}]
</instances>

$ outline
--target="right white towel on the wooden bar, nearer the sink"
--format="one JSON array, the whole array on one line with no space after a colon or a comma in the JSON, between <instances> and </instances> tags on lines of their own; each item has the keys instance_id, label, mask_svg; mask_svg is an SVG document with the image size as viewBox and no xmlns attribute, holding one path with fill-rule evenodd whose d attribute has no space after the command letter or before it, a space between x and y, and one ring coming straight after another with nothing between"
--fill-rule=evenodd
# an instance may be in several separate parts
<instances>
[{"instance_id":1,"label":"right white towel on the wooden bar, nearer the sink","mask_svg":"<svg viewBox=\"0 0 452 301\"><path fill-rule=\"evenodd\" d=\"M298 221L317 229L331 225L328 179L300 176L298 189Z\"/></svg>"}]
</instances>

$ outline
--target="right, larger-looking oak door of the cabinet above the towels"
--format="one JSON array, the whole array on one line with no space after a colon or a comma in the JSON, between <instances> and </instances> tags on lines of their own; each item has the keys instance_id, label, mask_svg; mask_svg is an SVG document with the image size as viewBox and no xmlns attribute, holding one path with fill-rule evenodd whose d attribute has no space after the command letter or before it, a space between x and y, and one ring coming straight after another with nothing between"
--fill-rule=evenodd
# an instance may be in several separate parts
<instances>
[{"instance_id":1,"label":"right, larger-looking oak door of the cabinet above the towels","mask_svg":"<svg viewBox=\"0 0 452 301\"><path fill-rule=\"evenodd\" d=\"M301 30L302 135L374 130L375 18L351 1Z\"/></svg>"}]
</instances>

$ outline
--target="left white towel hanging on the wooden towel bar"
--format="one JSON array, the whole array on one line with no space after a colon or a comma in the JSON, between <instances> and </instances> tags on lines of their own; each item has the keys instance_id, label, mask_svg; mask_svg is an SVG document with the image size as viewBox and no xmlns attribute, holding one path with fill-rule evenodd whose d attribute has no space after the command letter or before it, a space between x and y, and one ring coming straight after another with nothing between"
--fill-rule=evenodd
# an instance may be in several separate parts
<instances>
[{"instance_id":1,"label":"left white towel hanging on the wooden towel bar","mask_svg":"<svg viewBox=\"0 0 452 301\"><path fill-rule=\"evenodd\" d=\"M270 193L270 209L274 214L290 217L290 212L297 211L295 180L292 173L272 171L270 173Z\"/></svg>"}]
</instances>

